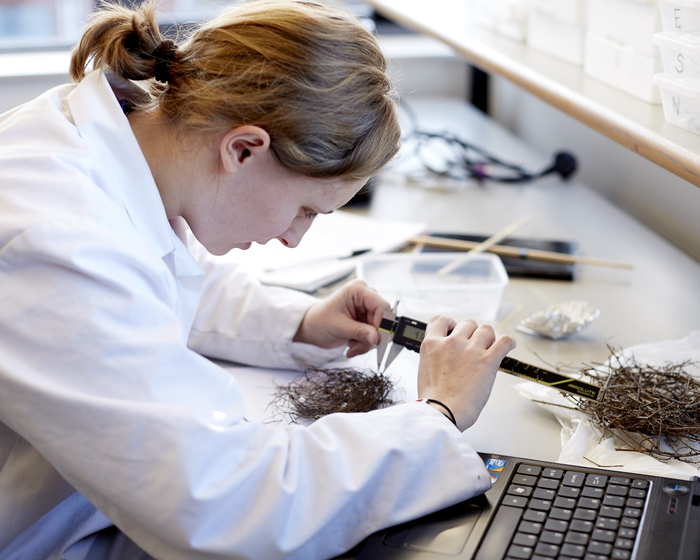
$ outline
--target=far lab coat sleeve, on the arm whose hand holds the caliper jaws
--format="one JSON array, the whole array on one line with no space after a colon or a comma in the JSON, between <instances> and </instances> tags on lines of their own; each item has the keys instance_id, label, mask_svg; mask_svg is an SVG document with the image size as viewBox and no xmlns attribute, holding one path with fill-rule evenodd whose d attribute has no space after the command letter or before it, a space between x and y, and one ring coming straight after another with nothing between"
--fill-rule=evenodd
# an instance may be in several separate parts
<instances>
[{"instance_id":1,"label":"far lab coat sleeve, on the arm whose hand holds the caliper jaws","mask_svg":"<svg viewBox=\"0 0 700 560\"><path fill-rule=\"evenodd\" d=\"M206 274L189 345L209 356L260 367L305 369L339 357L343 348L292 342L318 299L297 290L264 286L235 260L217 259L191 233L188 249Z\"/></svg>"}]
</instances>

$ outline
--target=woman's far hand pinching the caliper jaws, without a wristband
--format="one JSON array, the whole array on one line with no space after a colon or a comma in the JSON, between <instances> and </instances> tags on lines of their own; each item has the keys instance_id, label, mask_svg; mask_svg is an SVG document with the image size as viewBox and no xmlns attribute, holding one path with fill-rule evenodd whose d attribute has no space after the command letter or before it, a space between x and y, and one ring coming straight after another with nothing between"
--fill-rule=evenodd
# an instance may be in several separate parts
<instances>
[{"instance_id":1,"label":"woman's far hand pinching the caliper jaws, without a wristband","mask_svg":"<svg viewBox=\"0 0 700 560\"><path fill-rule=\"evenodd\" d=\"M347 346L347 357L364 354L379 343L379 323L391 305L361 280L348 282L306 312L294 336L321 348Z\"/></svg>"}]
</instances>

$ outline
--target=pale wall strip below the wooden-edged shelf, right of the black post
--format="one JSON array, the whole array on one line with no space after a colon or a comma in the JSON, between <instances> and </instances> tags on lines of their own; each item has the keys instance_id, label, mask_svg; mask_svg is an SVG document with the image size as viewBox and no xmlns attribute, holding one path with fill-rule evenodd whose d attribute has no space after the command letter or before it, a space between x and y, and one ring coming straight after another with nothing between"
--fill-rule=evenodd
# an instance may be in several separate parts
<instances>
[{"instance_id":1,"label":"pale wall strip below the wooden-edged shelf, right of the black post","mask_svg":"<svg viewBox=\"0 0 700 560\"><path fill-rule=\"evenodd\" d=\"M700 188L506 80L492 78L491 83L496 120L545 153L572 152L583 183L700 261Z\"/></svg>"}]
</instances>

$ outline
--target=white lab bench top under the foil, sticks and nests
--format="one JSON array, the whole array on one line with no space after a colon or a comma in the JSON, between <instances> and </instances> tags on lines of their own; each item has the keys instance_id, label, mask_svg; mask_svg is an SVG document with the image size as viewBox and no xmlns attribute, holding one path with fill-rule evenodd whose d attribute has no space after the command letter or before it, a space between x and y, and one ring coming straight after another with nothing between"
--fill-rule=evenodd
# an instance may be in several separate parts
<instances>
[{"instance_id":1,"label":"white lab bench top under the foil, sticks and nests","mask_svg":"<svg viewBox=\"0 0 700 560\"><path fill-rule=\"evenodd\" d=\"M547 154L531 151L512 134L462 102L412 100L420 125L450 128L506 160L541 167ZM465 184L457 192L428 191L403 184L388 172L373 193L369 214L375 218L423 221L440 231L491 235L524 215L532 221L518 232L525 237L575 240L581 254L628 262L633 270L581 266L573 282L511 278L503 306L512 309L497 327L513 336L512 356L535 365L601 363L608 344L623 348L682 338L700 329L700 265L641 223L606 202L585 185L546 178L527 186ZM516 330L518 323L550 304L577 299L601 310L584 332L552 341ZM351 361L376 368L374 352ZM249 399L248 418L269 420L266 409L275 384L294 372L274 372L227 365ZM406 400L415 398L417 355L404 351L389 373ZM492 397L467 437L478 451L556 460L560 426L542 407L514 389L522 380L501 373Z\"/></svg>"}]
</instances>

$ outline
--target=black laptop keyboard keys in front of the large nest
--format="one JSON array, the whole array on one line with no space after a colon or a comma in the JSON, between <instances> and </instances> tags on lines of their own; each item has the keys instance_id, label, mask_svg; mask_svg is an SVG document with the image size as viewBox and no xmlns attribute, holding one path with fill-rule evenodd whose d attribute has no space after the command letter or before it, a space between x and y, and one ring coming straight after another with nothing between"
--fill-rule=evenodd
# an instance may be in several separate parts
<instances>
[{"instance_id":1,"label":"black laptop keyboard keys in front of the large nest","mask_svg":"<svg viewBox=\"0 0 700 560\"><path fill-rule=\"evenodd\" d=\"M641 478L520 464L496 514L513 535L505 558L629 560L648 491Z\"/></svg>"}]
</instances>

